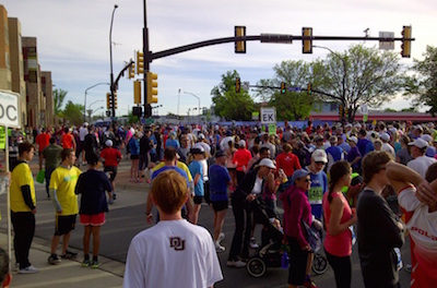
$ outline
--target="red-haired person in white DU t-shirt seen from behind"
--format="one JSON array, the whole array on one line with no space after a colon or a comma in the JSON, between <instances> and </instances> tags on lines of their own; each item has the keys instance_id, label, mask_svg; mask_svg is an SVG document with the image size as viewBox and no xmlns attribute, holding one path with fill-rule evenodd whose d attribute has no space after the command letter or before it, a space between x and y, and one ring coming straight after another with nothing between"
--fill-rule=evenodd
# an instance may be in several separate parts
<instances>
[{"instance_id":1,"label":"red-haired person in white DU t-shirt seen from behind","mask_svg":"<svg viewBox=\"0 0 437 288\"><path fill-rule=\"evenodd\" d=\"M223 274L212 237L180 214L188 197L186 179L163 171L150 193L161 220L132 239L123 287L213 287Z\"/></svg>"}]
</instances>

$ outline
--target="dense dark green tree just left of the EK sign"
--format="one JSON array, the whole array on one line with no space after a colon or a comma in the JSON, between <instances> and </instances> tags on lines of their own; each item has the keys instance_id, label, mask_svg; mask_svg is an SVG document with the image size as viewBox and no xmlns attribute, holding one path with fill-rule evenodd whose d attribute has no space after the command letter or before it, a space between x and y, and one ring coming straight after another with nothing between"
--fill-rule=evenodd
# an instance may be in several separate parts
<instances>
[{"instance_id":1,"label":"dense dark green tree just left of the EK sign","mask_svg":"<svg viewBox=\"0 0 437 288\"><path fill-rule=\"evenodd\" d=\"M250 120L253 111L253 99L243 87L239 93L235 91L237 71L227 71L222 75L222 83L211 91L212 109L216 116L227 120Z\"/></svg>"}]
</instances>

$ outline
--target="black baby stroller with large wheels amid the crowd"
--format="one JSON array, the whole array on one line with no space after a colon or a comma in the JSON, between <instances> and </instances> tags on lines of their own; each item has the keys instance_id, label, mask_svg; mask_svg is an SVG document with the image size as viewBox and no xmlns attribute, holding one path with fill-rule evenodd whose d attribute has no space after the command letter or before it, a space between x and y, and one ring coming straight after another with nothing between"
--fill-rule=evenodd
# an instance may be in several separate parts
<instances>
[{"instance_id":1,"label":"black baby stroller with large wheels amid the crowd","mask_svg":"<svg viewBox=\"0 0 437 288\"><path fill-rule=\"evenodd\" d=\"M257 223L263 225L261 233L261 245L257 253L249 259L246 265L247 272L252 277L261 277L268 267L281 267L283 255L283 231L277 228L277 215L271 208L267 207L262 201L255 200L251 203L253 218ZM293 261L293 260L290 260ZM324 255L315 253L312 271L320 275L328 269L328 261Z\"/></svg>"}]
</instances>

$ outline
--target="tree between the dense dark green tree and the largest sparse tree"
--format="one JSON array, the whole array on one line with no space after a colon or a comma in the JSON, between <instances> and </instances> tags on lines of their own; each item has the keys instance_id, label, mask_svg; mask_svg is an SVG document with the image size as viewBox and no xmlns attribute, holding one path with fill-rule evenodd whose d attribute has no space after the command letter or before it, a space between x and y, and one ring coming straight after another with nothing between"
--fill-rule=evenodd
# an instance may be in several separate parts
<instances>
[{"instance_id":1,"label":"tree between the dense dark green tree and the largest sparse tree","mask_svg":"<svg viewBox=\"0 0 437 288\"><path fill-rule=\"evenodd\" d=\"M261 80L257 83L262 86L256 91L257 96L276 108L277 120L299 120L309 116L314 105L314 97L306 93L310 76L310 64L304 61L282 61L273 68L275 77ZM287 87L300 87L302 92L287 89L281 94L279 87L284 82Z\"/></svg>"}]
</instances>

